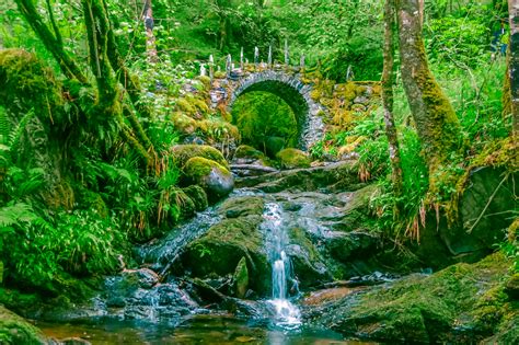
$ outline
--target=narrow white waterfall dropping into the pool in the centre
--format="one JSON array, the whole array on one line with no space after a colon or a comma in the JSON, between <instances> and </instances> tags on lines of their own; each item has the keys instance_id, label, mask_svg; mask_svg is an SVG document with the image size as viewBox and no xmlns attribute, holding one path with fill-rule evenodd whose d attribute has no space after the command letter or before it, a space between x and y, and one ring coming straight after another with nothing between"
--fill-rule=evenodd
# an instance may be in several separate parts
<instances>
[{"instance_id":1,"label":"narrow white waterfall dropping into the pool in the centre","mask_svg":"<svg viewBox=\"0 0 519 345\"><path fill-rule=\"evenodd\" d=\"M281 206L275 203L266 204L263 218L262 228L266 232L268 258L273 268L273 295L268 303L274 307L276 325L295 329L301 324L301 313L290 301L288 294L289 283L296 289L297 284L292 277L290 258L286 253L289 239L282 221Z\"/></svg>"}]
</instances>

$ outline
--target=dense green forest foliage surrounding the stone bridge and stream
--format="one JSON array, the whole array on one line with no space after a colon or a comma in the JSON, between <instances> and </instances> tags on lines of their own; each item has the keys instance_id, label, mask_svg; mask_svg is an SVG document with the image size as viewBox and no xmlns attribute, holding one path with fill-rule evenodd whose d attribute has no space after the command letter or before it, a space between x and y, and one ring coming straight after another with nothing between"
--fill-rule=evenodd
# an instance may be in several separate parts
<instances>
[{"instance_id":1,"label":"dense green forest foliage surrounding the stone bridge and stream","mask_svg":"<svg viewBox=\"0 0 519 345\"><path fill-rule=\"evenodd\" d=\"M147 3L155 59L147 55ZM207 80L197 76L209 55L223 69L228 54L238 58L243 47L253 61L257 46L266 59L272 46L282 61L288 42L291 64L304 55L309 70L337 83L379 81L384 65L383 3L377 0L5 0L0 13L0 278L45 294L79 294L73 277L117 271L131 243L194 214L170 150L183 139L182 120L192 124L183 116L205 118L197 133L208 142L239 138L228 124L232 115L214 114L197 100L186 104L184 84L207 92ZM463 145L450 164L435 174L428 169L400 72L393 113L403 193L395 195L388 177L382 108L327 133L311 150L322 159L358 143L353 149L364 179L380 180L385 191L373 200L379 230L407 240L418 240L426 208L454 216L469 168L517 168L509 103L503 102L507 2L430 0L424 13L429 67L461 126ZM234 115L238 127L258 114L289 112L275 100L244 102L252 115ZM262 107L251 110L254 103ZM293 139L293 120L281 125ZM270 130L253 128L250 143ZM514 237L501 246L517 257Z\"/></svg>"}]
</instances>

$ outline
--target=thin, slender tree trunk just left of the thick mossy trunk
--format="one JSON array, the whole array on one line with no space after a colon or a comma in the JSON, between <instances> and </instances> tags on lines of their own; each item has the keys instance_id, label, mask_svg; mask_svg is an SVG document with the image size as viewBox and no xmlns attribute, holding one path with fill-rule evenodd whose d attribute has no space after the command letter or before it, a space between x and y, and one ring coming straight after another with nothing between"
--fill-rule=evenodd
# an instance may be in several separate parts
<instances>
[{"instance_id":1,"label":"thin, slender tree trunk just left of the thick mossy trunk","mask_svg":"<svg viewBox=\"0 0 519 345\"><path fill-rule=\"evenodd\" d=\"M384 5L384 69L382 71L382 103L384 107L385 135L390 147L393 192L396 197L402 195L402 166L400 158L399 137L393 116L393 84L394 84L394 18L393 0L385 0ZM399 211L399 205L396 205Z\"/></svg>"}]
</instances>

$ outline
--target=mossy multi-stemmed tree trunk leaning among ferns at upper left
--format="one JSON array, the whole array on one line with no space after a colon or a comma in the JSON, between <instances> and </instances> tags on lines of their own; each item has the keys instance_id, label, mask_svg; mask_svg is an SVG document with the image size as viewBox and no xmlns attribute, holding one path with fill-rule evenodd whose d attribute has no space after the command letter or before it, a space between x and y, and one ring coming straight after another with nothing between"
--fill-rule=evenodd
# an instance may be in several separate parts
<instances>
[{"instance_id":1,"label":"mossy multi-stemmed tree trunk leaning among ferns at upper left","mask_svg":"<svg viewBox=\"0 0 519 345\"><path fill-rule=\"evenodd\" d=\"M51 12L51 2L46 0L51 28L45 24L46 20L39 14L37 2L34 0L15 0L15 2L27 23L59 64L62 73L70 80L88 84L79 64L64 48L59 27ZM97 93L96 102L88 111L89 114L83 114L88 118L86 124L91 128L101 125L105 127L104 130L119 128L125 140L150 165L154 157L153 146L137 119L134 107L143 115L150 114L139 105L140 87L118 54L105 0L81 0L81 7L88 36L89 65L95 78ZM125 92L128 92L130 100L127 100ZM111 126L111 122L118 123L118 126Z\"/></svg>"}]
</instances>

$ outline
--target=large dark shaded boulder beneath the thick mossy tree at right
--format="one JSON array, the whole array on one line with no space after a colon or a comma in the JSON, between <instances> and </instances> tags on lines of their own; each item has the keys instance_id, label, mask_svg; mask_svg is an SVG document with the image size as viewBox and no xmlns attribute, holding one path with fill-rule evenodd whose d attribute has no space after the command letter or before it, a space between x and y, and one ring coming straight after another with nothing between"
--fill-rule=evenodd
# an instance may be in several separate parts
<instances>
[{"instance_id":1,"label":"large dark shaded boulder beneath the thick mossy tree at right","mask_svg":"<svg viewBox=\"0 0 519 345\"><path fill-rule=\"evenodd\" d=\"M514 195L517 179L519 174L499 169L474 169L459 196L459 221L452 223L445 216L428 212L426 227L420 229L420 245L414 252L435 268L475 262L492 253L505 240L518 209Z\"/></svg>"}]
</instances>

